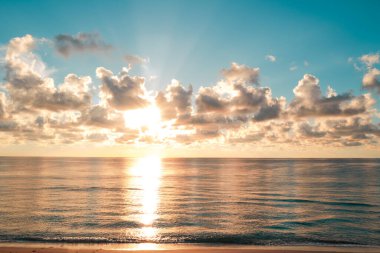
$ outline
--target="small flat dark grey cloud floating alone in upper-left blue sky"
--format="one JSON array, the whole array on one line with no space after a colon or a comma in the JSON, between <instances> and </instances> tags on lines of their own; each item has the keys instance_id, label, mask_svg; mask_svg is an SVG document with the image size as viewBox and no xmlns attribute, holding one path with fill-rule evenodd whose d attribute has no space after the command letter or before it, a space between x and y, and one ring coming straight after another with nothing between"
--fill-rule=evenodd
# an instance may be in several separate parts
<instances>
[{"instance_id":1,"label":"small flat dark grey cloud floating alone in upper-left blue sky","mask_svg":"<svg viewBox=\"0 0 380 253\"><path fill-rule=\"evenodd\" d=\"M106 44L97 33L59 34L54 38L55 49L64 57L81 52L107 51L112 47Z\"/></svg>"}]
</instances>

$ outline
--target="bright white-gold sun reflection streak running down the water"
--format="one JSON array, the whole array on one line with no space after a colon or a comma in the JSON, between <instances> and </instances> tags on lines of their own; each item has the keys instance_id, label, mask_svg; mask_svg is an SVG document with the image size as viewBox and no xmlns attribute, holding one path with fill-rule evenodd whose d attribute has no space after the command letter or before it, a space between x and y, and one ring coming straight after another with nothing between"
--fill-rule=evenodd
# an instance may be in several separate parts
<instances>
[{"instance_id":1,"label":"bright white-gold sun reflection streak running down the water","mask_svg":"<svg viewBox=\"0 0 380 253\"><path fill-rule=\"evenodd\" d=\"M139 231L139 236L143 241L154 240L157 236L157 230L153 226L153 223L157 219L157 208L160 201L161 170L161 159L159 156L139 158L133 166L128 168L127 173L132 177L132 181L129 181L129 183L134 188L140 189L134 201L136 201L135 204L138 204L140 208L137 219L143 224L143 227ZM154 243L141 243L137 244L136 248L150 250L156 247Z\"/></svg>"}]
</instances>

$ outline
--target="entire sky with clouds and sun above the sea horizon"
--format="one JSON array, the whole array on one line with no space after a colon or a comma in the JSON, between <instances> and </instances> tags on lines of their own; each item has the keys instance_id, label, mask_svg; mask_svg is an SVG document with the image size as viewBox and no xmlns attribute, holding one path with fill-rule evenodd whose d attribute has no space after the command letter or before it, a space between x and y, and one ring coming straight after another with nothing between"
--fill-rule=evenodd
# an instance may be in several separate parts
<instances>
[{"instance_id":1,"label":"entire sky with clouds and sun above the sea horizon","mask_svg":"<svg viewBox=\"0 0 380 253\"><path fill-rule=\"evenodd\" d=\"M0 155L379 157L379 1L0 5Z\"/></svg>"}]
</instances>

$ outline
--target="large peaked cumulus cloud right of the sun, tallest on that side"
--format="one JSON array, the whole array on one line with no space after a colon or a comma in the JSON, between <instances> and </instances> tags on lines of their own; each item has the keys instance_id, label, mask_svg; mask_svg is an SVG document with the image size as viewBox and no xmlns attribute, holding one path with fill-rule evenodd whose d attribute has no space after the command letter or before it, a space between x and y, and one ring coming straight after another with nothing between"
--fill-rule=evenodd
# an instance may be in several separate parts
<instances>
[{"instance_id":1,"label":"large peaked cumulus cloud right of the sun, tallest on that side","mask_svg":"<svg viewBox=\"0 0 380 253\"><path fill-rule=\"evenodd\" d=\"M258 84L259 69L232 63L223 70L225 80L212 87L201 87L195 99L200 114L228 114L231 117L263 121L279 117L283 99L272 98L268 87ZM244 121L243 120L243 121Z\"/></svg>"}]
</instances>

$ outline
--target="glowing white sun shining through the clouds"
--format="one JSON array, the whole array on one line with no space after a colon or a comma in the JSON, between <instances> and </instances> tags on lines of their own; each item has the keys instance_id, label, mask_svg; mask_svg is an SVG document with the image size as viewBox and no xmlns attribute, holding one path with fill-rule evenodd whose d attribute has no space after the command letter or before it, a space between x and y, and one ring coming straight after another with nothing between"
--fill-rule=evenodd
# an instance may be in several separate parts
<instances>
[{"instance_id":1,"label":"glowing white sun shining through the clouds","mask_svg":"<svg viewBox=\"0 0 380 253\"><path fill-rule=\"evenodd\" d=\"M160 123L161 113L155 106L124 112L124 124L127 128L155 130L160 127Z\"/></svg>"}]
</instances>

